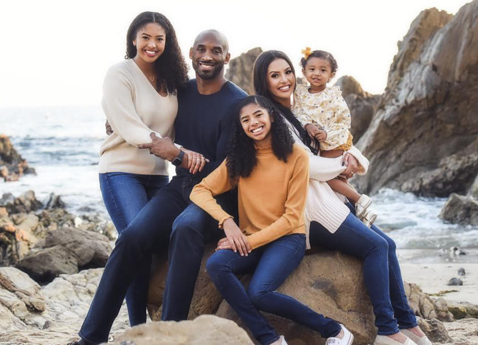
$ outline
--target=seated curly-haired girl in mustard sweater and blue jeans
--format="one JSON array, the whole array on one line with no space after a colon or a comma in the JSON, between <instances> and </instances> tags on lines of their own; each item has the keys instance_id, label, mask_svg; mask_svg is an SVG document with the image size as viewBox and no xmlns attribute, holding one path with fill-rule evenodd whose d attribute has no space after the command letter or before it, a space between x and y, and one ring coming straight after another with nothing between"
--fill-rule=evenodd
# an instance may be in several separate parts
<instances>
[{"instance_id":1,"label":"seated curly-haired girl in mustard sweater and blue jeans","mask_svg":"<svg viewBox=\"0 0 478 345\"><path fill-rule=\"evenodd\" d=\"M260 344L287 343L259 310L307 325L328 338L327 344L352 344L344 326L275 291L305 253L307 153L293 144L282 116L265 97L245 98L235 114L226 160L191 192L191 200L227 236L207 262L211 279ZM239 227L214 198L235 186ZM244 273L253 273L247 291L236 277Z\"/></svg>"}]
</instances>

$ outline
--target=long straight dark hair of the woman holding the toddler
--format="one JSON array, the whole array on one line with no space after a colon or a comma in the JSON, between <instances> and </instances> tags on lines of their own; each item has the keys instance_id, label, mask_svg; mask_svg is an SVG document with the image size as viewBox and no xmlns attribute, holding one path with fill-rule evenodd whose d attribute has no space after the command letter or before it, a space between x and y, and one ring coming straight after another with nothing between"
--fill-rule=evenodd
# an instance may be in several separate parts
<instances>
[{"instance_id":1,"label":"long straight dark hair of the woman holding the toddler","mask_svg":"<svg viewBox=\"0 0 478 345\"><path fill-rule=\"evenodd\" d=\"M307 134L307 131L300 124L299 120L297 120L294 114L292 114L290 109L286 110L284 106L275 102L269 92L267 83L267 69L269 68L271 62L276 59L285 60L289 64L290 69L292 70L292 74L294 74L295 78L294 66L292 65L292 62L285 53L279 50L266 50L262 52L259 56L257 56L257 59L254 62L254 67L252 70L254 93L256 95L260 95L271 100L275 104L275 106L281 110L281 114L294 126L300 140L309 147L309 149L314 155L317 155L319 153L317 149L319 147L319 142L316 139L312 140Z\"/></svg>"}]
</instances>

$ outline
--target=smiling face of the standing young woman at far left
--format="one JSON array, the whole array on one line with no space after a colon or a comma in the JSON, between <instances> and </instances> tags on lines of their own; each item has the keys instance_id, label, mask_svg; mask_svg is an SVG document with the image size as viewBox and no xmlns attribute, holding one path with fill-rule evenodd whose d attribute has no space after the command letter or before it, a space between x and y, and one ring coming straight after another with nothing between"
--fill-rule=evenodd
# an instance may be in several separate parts
<instances>
[{"instance_id":1,"label":"smiling face of the standing young woman at far left","mask_svg":"<svg viewBox=\"0 0 478 345\"><path fill-rule=\"evenodd\" d=\"M153 63L164 52L165 44L166 30L157 23L148 23L136 32L133 40L137 50L134 59Z\"/></svg>"}]
</instances>

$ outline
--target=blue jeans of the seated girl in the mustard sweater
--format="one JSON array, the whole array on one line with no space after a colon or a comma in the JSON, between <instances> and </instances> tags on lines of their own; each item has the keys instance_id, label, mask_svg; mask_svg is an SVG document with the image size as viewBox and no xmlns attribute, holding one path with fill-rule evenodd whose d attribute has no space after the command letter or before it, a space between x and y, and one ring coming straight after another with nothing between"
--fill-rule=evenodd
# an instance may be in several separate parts
<instances>
[{"instance_id":1,"label":"blue jeans of the seated girl in the mustard sweater","mask_svg":"<svg viewBox=\"0 0 478 345\"><path fill-rule=\"evenodd\" d=\"M305 235L283 236L254 249L248 256L219 250L207 261L208 273L221 295L238 313L260 344L279 339L259 310L279 315L320 332L323 338L340 333L340 325L275 290L299 265L305 254ZM247 291L237 274L253 273Z\"/></svg>"}]
</instances>

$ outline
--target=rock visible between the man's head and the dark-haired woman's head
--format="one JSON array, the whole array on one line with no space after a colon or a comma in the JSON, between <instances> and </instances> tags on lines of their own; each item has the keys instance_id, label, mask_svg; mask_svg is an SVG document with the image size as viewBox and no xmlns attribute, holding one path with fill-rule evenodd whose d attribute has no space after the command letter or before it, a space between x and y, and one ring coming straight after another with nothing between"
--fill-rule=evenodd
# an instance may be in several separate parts
<instances>
[{"instance_id":1,"label":"rock visible between the man's head and the dark-haired woman's head","mask_svg":"<svg viewBox=\"0 0 478 345\"><path fill-rule=\"evenodd\" d=\"M252 67L254 66L255 59L261 52L262 49L256 47L246 53L240 54L240 56L229 61L229 69L226 71L226 78L249 95L254 93L251 82Z\"/></svg>"}]
</instances>

